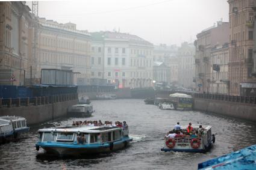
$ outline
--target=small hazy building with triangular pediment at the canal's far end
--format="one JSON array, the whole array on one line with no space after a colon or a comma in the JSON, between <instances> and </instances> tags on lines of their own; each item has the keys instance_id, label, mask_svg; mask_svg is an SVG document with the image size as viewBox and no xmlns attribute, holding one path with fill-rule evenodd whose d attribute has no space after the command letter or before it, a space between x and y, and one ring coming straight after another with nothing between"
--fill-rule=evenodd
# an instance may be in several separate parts
<instances>
[{"instance_id":1,"label":"small hazy building with triangular pediment at the canal's far end","mask_svg":"<svg viewBox=\"0 0 256 170\"><path fill-rule=\"evenodd\" d=\"M154 62L153 80L155 82L170 82L170 67L163 62Z\"/></svg>"}]
</instances>

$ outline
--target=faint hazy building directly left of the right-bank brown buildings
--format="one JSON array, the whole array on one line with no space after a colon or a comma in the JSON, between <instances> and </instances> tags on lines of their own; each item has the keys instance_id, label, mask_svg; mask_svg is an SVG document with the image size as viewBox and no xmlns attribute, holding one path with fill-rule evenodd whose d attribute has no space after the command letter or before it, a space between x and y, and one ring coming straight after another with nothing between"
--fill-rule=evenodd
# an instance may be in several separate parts
<instances>
[{"instance_id":1,"label":"faint hazy building directly left of the right-bank brown buildings","mask_svg":"<svg viewBox=\"0 0 256 170\"><path fill-rule=\"evenodd\" d=\"M178 49L178 84L185 88L195 88L195 46L184 42Z\"/></svg>"}]
</instances>

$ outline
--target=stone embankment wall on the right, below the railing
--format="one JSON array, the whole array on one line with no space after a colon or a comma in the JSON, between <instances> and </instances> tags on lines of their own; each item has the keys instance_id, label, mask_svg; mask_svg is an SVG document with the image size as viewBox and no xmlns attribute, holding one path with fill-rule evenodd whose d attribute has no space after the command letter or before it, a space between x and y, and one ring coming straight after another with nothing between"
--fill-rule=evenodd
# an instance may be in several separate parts
<instances>
[{"instance_id":1,"label":"stone embankment wall on the right, below the railing","mask_svg":"<svg viewBox=\"0 0 256 170\"><path fill-rule=\"evenodd\" d=\"M256 105L195 98L193 109L256 122Z\"/></svg>"}]
</instances>

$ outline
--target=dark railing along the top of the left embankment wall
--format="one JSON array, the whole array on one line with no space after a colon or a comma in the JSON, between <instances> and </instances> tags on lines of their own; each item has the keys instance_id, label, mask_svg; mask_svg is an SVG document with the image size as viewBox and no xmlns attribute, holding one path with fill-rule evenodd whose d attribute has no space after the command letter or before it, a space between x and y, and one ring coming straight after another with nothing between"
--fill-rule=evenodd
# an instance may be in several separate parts
<instances>
[{"instance_id":1,"label":"dark railing along the top of the left embankment wall","mask_svg":"<svg viewBox=\"0 0 256 170\"><path fill-rule=\"evenodd\" d=\"M61 94L58 96L40 96L17 99L0 99L0 108L11 108L19 106L47 105L57 102L65 102L78 99L77 93Z\"/></svg>"}]
</instances>

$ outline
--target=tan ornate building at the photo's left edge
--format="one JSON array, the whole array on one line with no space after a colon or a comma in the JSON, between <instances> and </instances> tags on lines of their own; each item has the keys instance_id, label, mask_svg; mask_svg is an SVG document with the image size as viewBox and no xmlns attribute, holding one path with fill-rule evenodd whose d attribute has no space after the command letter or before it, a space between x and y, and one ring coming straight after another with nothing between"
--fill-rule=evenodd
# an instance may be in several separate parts
<instances>
[{"instance_id":1,"label":"tan ornate building at the photo's left edge","mask_svg":"<svg viewBox=\"0 0 256 170\"><path fill-rule=\"evenodd\" d=\"M0 2L1 85L24 85L31 78L32 22L25 2Z\"/></svg>"}]
</instances>

